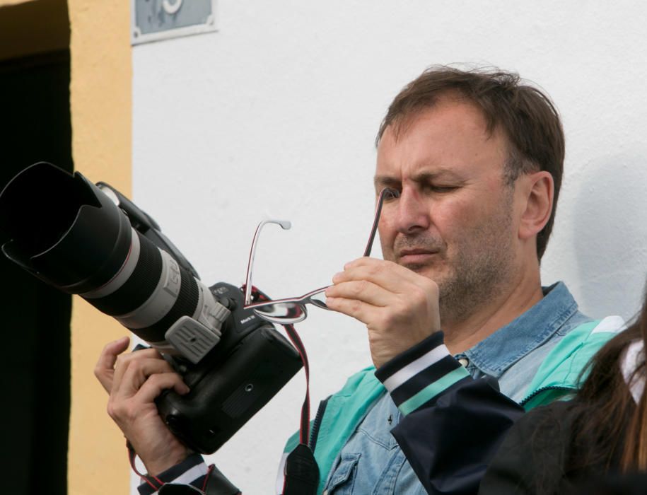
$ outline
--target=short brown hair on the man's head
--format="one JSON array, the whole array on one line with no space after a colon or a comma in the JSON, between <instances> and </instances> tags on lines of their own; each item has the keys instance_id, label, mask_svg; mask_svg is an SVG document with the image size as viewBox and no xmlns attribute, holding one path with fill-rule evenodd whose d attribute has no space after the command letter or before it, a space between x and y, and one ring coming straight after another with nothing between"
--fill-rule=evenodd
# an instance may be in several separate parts
<instances>
[{"instance_id":1,"label":"short brown hair on the man's head","mask_svg":"<svg viewBox=\"0 0 647 495\"><path fill-rule=\"evenodd\" d=\"M379 144L387 127L392 126L397 136L409 117L448 96L458 96L479 108L489 135L501 129L508 138L508 157L503 166L506 184L513 186L521 175L538 170L552 175L553 209L537 234L537 257L541 260L553 228L564 171L564 131L556 108L546 94L528 85L518 74L499 69L431 66L395 97L375 144Z\"/></svg>"}]
</instances>

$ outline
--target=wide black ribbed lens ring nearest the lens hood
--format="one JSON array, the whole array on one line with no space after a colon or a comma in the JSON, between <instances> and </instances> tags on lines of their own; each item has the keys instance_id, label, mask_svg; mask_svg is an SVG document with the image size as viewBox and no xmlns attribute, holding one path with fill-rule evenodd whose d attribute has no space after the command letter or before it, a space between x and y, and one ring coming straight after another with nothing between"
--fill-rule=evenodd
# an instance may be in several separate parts
<instances>
[{"instance_id":1,"label":"wide black ribbed lens ring nearest the lens hood","mask_svg":"<svg viewBox=\"0 0 647 495\"><path fill-rule=\"evenodd\" d=\"M115 292L103 298L86 299L107 315L126 315L144 304L160 281L162 255L156 245L144 235L139 235L139 260L128 280Z\"/></svg>"}]
</instances>

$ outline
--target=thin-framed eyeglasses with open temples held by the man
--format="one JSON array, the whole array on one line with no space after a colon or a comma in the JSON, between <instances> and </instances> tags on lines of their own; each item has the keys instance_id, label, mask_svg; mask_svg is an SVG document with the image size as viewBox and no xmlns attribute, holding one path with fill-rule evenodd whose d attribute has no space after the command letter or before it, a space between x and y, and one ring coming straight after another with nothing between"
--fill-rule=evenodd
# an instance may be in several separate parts
<instances>
[{"instance_id":1,"label":"thin-framed eyeglasses with open temples held by the man","mask_svg":"<svg viewBox=\"0 0 647 495\"><path fill-rule=\"evenodd\" d=\"M371 227L371 235L368 236L368 243L366 243L363 256L371 255L371 248L373 246L373 240L375 239L375 233L378 230L378 223L380 222L380 213L382 212L382 204L384 200L397 197L400 197L400 192L395 189L391 189L390 187L385 187L385 189L380 192L378 205L375 208L373 226ZM317 308L330 310L325 301L322 301L320 296L326 289L328 289L328 287L330 287L330 285L305 293L301 297L273 299L270 301L252 303L252 265L254 264L254 257L256 255L256 244L262 228L268 223L276 223L276 225L281 226L284 230L288 230L288 228L291 228L292 226L292 224L286 220L264 220L258 224L256 232L254 233L254 239L252 240L250 259L247 263L247 276L245 276L245 309L252 309L258 317L272 323L278 323L279 325L291 325L305 320L305 318L308 317L308 310L305 309L306 304L312 304Z\"/></svg>"}]
</instances>

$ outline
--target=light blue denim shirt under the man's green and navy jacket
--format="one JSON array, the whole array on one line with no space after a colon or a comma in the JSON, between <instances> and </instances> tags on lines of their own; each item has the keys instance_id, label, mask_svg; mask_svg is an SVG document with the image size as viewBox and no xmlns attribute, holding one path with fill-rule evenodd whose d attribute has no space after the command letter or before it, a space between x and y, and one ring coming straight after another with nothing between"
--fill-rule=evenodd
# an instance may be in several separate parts
<instances>
[{"instance_id":1,"label":"light blue denim shirt under the man's green and navy jacket","mask_svg":"<svg viewBox=\"0 0 647 495\"><path fill-rule=\"evenodd\" d=\"M540 364L573 328L591 321L562 282L508 325L455 357L474 378L499 380L501 392L520 402ZM401 413L384 393L351 435L328 474L325 495L426 494L390 430ZM322 476L325 476L322 473Z\"/></svg>"}]
</instances>

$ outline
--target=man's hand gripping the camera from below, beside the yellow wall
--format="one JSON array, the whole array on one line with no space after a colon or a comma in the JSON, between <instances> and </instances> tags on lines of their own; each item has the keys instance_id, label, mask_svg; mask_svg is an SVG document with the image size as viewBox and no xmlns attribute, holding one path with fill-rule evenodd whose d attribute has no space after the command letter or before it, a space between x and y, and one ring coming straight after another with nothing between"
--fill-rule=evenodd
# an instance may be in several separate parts
<instances>
[{"instance_id":1,"label":"man's hand gripping the camera from below, beside the yellow wall","mask_svg":"<svg viewBox=\"0 0 647 495\"><path fill-rule=\"evenodd\" d=\"M189 392L180 375L155 349L122 354L128 337L107 344L95 375L110 394L107 413L144 462L148 474L157 475L187 458L189 450L162 421L155 399L162 390Z\"/></svg>"}]
</instances>

